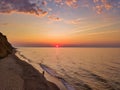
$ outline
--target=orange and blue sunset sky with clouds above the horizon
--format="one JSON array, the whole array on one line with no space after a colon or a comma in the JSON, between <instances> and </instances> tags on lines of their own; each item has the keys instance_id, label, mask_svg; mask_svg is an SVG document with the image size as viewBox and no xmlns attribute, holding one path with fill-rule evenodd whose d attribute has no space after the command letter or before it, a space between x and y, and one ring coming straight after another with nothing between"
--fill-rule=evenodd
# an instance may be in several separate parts
<instances>
[{"instance_id":1,"label":"orange and blue sunset sky with clouds above the horizon","mask_svg":"<svg viewBox=\"0 0 120 90\"><path fill-rule=\"evenodd\" d=\"M14 46L120 46L120 0L0 0Z\"/></svg>"}]
</instances>

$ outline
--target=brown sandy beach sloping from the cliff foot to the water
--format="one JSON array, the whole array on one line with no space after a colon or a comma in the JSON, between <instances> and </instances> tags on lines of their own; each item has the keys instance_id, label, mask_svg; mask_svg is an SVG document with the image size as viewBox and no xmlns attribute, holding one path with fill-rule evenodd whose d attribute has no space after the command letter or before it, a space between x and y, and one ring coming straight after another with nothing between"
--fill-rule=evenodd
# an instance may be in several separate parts
<instances>
[{"instance_id":1,"label":"brown sandy beach sloping from the cliff foot to the water","mask_svg":"<svg viewBox=\"0 0 120 90\"><path fill-rule=\"evenodd\" d=\"M15 52L0 60L0 90L60 90Z\"/></svg>"}]
</instances>

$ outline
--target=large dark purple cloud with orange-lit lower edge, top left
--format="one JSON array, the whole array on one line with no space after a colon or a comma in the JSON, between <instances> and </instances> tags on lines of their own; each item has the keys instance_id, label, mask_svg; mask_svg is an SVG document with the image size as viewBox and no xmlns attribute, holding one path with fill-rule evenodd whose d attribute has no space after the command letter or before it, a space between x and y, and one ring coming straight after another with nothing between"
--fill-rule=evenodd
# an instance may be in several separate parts
<instances>
[{"instance_id":1,"label":"large dark purple cloud with orange-lit lower edge, top left","mask_svg":"<svg viewBox=\"0 0 120 90\"><path fill-rule=\"evenodd\" d=\"M43 3L46 5L46 3ZM38 5L37 0L0 0L0 13L24 12L37 16L48 14Z\"/></svg>"}]
</instances>

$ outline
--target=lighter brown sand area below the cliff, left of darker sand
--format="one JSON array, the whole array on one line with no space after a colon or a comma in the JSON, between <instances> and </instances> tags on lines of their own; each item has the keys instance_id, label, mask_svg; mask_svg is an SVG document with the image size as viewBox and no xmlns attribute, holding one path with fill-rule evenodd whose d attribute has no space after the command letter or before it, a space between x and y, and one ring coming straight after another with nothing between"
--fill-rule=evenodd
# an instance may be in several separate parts
<instances>
[{"instance_id":1,"label":"lighter brown sand area below the cliff, left of darker sand","mask_svg":"<svg viewBox=\"0 0 120 90\"><path fill-rule=\"evenodd\" d=\"M0 90L24 90L23 70L13 55L0 60Z\"/></svg>"}]
</instances>

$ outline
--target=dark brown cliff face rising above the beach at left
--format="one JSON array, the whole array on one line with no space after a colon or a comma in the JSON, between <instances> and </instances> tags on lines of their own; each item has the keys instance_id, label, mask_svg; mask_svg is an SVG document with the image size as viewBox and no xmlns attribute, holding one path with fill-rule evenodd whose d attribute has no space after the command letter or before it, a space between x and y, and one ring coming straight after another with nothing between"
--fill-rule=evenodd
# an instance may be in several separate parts
<instances>
[{"instance_id":1,"label":"dark brown cliff face rising above the beach at left","mask_svg":"<svg viewBox=\"0 0 120 90\"><path fill-rule=\"evenodd\" d=\"M6 36L0 32L0 59L12 53L13 47L8 42Z\"/></svg>"}]
</instances>

